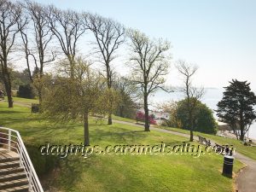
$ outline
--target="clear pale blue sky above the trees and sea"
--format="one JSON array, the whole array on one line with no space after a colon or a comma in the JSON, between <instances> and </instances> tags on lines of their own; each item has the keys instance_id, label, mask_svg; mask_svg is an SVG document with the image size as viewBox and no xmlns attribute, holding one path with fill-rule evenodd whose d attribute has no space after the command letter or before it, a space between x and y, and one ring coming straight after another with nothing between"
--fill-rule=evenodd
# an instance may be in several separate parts
<instances>
[{"instance_id":1,"label":"clear pale blue sky above the trees and sea","mask_svg":"<svg viewBox=\"0 0 256 192\"><path fill-rule=\"evenodd\" d=\"M168 83L177 85L174 63L200 68L195 84L223 87L248 80L256 90L256 1L212 0L37 0L61 9L87 10L111 17L149 37L172 43ZM119 69L122 70L122 69Z\"/></svg>"}]
</instances>

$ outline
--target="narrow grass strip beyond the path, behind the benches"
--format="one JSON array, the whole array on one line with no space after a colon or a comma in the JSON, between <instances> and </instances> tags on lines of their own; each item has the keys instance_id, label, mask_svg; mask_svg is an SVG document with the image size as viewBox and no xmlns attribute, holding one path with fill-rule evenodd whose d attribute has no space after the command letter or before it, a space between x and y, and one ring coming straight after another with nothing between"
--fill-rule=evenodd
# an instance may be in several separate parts
<instances>
[{"instance_id":1,"label":"narrow grass strip beyond the path, behind the benches","mask_svg":"<svg viewBox=\"0 0 256 192\"><path fill-rule=\"evenodd\" d=\"M159 127L162 129L166 129L166 130L177 131L177 132L189 134L189 131L179 129L179 128L171 128L171 127L165 127L165 126L159 126ZM253 160L256 160L256 147L245 146L239 140L236 140L233 138L228 138L228 137L214 136L214 135L205 134L205 133L196 132L196 131L194 132L194 135L195 136L199 135L201 137L206 137L207 139L212 139L213 141L215 141L218 144L233 145L236 148L237 152L244 154L244 155L252 158ZM195 138L197 140L197 137L195 137Z\"/></svg>"}]
</instances>

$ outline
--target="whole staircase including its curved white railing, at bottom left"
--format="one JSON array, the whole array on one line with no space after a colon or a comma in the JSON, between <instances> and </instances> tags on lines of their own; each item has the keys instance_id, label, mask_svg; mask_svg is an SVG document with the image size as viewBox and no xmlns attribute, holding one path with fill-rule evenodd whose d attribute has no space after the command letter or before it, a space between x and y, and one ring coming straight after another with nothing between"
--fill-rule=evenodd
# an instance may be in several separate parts
<instances>
[{"instance_id":1,"label":"whole staircase including its curved white railing, at bottom left","mask_svg":"<svg viewBox=\"0 0 256 192\"><path fill-rule=\"evenodd\" d=\"M0 192L44 192L18 131L0 127Z\"/></svg>"}]
</instances>

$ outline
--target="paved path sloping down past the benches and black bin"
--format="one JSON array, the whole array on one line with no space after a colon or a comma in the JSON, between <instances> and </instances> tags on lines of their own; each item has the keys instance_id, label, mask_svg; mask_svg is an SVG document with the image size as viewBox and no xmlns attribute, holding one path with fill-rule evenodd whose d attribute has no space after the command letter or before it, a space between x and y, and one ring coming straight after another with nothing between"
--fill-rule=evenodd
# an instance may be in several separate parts
<instances>
[{"instance_id":1,"label":"paved path sloping down past the benches and black bin","mask_svg":"<svg viewBox=\"0 0 256 192\"><path fill-rule=\"evenodd\" d=\"M120 120L113 120L113 122L125 124L125 125L135 125L135 126L144 128L144 125L139 125L136 123L130 123L130 122L125 122ZM170 131L170 130L164 130L164 129L156 128L152 125L150 126L150 130L170 133L173 135L189 138L189 134ZM215 143L215 142L211 140L211 143ZM238 177L236 178L236 185L238 189L236 190L236 192L256 192L256 161L248 158L243 154L239 154L237 152L236 154L234 154L234 157L237 160L240 160L243 164L247 165L246 168L241 170Z\"/></svg>"}]
</instances>

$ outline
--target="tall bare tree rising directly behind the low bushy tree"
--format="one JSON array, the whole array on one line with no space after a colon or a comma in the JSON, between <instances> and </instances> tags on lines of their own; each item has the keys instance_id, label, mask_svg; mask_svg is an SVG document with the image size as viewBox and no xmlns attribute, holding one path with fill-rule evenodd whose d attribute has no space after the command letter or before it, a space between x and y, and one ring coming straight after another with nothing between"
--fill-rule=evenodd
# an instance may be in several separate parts
<instances>
[{"instance_id":1,"label":"tall bare tree rising directly behind the low bushy tree","mask_svg":"<svg viewBox=\"0 0 256 192\"><path fill-rule=\"evenodd\" d=\"M84 21L79 13L73 10L61 10L49 7L49 28L61 44L61 49L70 65L70 78L74 78L75 56L79 38L86 31Z\"/></svg>"}]
</instances>

